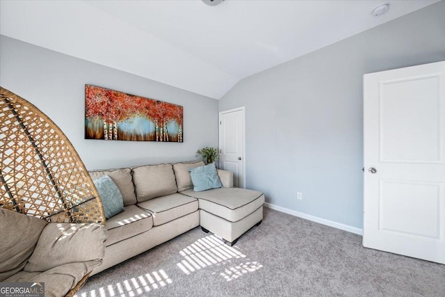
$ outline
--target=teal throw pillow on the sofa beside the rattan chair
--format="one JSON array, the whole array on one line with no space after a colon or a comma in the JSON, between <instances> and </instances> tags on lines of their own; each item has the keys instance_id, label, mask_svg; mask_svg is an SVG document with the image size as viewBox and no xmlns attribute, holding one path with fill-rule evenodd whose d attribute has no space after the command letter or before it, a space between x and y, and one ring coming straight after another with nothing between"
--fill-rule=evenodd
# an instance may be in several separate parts
<instances>
[{"instance_id":1,"label":"teal throw pillow on the sofa beside the rattan chair","mask_svg":"<svg viewBox=\"0 0 445 297\"><path fill-rule=\"evenodd\" d=\"M99 196L102 200L105 218L111 218L125 210L122 194L111 177L104 175L103 177L95 179L93 182L95 183L97 192L99 192Z\"/></svg>"}]
</instances>

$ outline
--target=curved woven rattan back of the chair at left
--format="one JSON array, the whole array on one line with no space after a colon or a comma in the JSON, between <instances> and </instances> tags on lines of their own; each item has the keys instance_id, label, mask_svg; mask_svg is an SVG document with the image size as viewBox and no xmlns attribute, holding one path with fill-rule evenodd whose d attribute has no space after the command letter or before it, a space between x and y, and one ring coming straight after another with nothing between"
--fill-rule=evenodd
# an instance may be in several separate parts
<instances>
[{"instance_id":1,"label":"curved woven rattan back of the chair at left","mask_svg":"<svg viewBox=\"0 0 445 297\"><path fill-rule=\"evenodd\" d=\"M0 87L0 125L0 207L51 222L105 222L90 175L47 115Z\"/></svg>"}]
</instances>

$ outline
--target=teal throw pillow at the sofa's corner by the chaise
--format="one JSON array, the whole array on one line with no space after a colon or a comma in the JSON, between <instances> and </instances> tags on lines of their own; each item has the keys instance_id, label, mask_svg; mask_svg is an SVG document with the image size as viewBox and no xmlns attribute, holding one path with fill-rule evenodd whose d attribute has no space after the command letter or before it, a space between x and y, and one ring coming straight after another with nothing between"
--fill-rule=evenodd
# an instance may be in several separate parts
<instances>
[{"instance_id":1,"label":"teal throw pillow at the sofa's corner by the chaise","mask_svg":"<svg viewBox=\"0 0 445 297\"><path fill-rule=\"evenodd\" d=\"M193 183L193 191L200 192L211 188L221 188L223 185L216 172L215 163L206 166L188 168Z\"/></svg>"}]
</instances>

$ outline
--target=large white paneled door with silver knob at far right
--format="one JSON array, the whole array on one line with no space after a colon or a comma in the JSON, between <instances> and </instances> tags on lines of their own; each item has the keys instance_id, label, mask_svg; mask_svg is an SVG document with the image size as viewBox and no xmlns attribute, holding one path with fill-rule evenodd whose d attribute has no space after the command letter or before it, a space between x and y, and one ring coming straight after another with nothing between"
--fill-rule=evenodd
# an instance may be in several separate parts
<instances>
[{"instance_id":1,"label":"large white paneled door with silver knob at far right","mask_svg":"<svg viewBox=\"0 0 445 297\"><path fill-rule=\"evenodd\" d=\"M445 61L364 75L363 246L445 264Z\"/></svg>"}]
</instances>

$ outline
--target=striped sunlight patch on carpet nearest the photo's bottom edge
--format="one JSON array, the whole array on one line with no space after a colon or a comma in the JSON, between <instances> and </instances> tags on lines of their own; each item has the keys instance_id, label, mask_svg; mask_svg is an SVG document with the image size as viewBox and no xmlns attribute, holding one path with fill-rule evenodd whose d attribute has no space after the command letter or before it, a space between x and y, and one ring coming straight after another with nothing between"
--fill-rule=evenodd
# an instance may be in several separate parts
<instances>
[{"instance_id":1,"label":"striped sunlight patch on carpet nearest the photo's bottom edge","mask_svg":"<svg viewBox=\"0 0 445 297\"><path fill-rule=\"evenodd\" d=\"M172 280L167 273L161 269L145 275L139 275L136 278L129 278L123 282L108 284L106 287L100 287L97 290L74 295L74 297L133 297L145 294L153 289L165 287L171 284Z\"/></svg>"}]
</instances>

